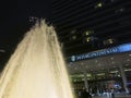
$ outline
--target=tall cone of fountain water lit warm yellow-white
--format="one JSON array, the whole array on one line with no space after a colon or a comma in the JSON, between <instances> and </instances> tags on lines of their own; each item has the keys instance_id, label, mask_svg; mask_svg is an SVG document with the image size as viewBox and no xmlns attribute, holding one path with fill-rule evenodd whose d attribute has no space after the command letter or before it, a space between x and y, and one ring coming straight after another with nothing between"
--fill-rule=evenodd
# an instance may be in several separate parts
<instances>
[{"instance_id":1,"label":"tall cone of fountain water lit warm yellow-white","mask_svg":"<svg viewBox=\"0 0 131 98\"><path fill-rule=\"evenodd\" d=\"M25 35L5 65L0 98L74 98L56 33L44 21Z\"/></svg>"}]
</instances>

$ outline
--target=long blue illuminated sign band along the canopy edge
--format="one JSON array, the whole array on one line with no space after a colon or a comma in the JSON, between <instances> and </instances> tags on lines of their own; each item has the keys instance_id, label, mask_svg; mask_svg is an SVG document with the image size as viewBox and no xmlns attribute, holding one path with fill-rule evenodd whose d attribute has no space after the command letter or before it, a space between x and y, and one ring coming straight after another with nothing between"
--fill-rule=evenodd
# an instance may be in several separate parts
<instances>
[{"instance_id":1,"label":"long blue illuminated sign band along the canopy edge","mask_svg":"<svg viewBox=\"0 0 131 98\"><path fill-rule=\"evenodd\" d=\"M96 58L96 57L100 57L100 56L128 52L128 51L131 51L131 44L119 45L118 47L97 50L97 51L79 54L79 56L72 56L70 59L72 62L74 62L74 61L81 61L81 60Z\"/></svg>"}]
</instances>

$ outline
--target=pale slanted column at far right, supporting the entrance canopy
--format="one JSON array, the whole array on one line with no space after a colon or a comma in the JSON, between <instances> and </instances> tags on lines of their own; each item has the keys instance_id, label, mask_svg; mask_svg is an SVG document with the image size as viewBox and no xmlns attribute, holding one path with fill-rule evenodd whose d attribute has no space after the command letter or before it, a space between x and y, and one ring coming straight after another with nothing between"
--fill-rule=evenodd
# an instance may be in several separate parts
<instances>
[{"instance_id":1,"label":"pale slanted column at far right, supporting the entrance canopy","mask_svg":"<svg viewBox=\"0 0 131 98\"><path fill-rule=\"evenodd\" d=\"M127 87L127 77L126 77L126 73L123 71L122 65L119 65L119 69L120 69L120 73L121 73L121 77L122 77L123 87L126 89L126 93L129 93L128 87Z\"/></svg>"}]
</instances>

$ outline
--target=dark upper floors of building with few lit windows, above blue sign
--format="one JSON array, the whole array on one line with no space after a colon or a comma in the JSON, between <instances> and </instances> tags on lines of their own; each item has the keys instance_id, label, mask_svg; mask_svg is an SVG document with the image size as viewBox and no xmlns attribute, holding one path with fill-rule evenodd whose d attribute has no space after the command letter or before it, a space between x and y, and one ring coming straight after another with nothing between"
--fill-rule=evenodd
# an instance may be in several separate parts
<instances>
[{"instance_id":1,"label":"dark upper floors of building with few lit windows, above blue sign","mask_svg":"<svg viewBox=\"0 0 131 98\"><path fill-rule=\"evenodd\" d=\"M131 41L130 0L52 0L51 20L67 57Z\"/></svg>"}]
</instances>

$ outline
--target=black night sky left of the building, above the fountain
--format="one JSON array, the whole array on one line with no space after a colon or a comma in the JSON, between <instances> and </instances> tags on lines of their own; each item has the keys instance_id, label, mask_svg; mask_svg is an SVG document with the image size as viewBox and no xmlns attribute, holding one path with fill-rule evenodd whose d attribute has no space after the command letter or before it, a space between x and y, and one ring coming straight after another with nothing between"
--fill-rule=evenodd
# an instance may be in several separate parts
<instances>
[{"instance_id":1,"label":"black night sky left of the building, above the fountain","mask_svg":"<svg viewBox=\"0 0 131 98\"><path fill-rule=\"evenodd\" d=\"M31 28L29 16L43 17L50 23L51 0L2 0L0 2L0 69Z\"/></svg>"}]
</instances>

